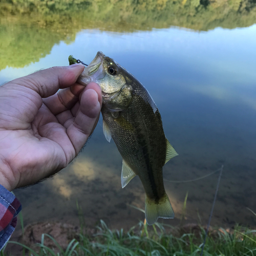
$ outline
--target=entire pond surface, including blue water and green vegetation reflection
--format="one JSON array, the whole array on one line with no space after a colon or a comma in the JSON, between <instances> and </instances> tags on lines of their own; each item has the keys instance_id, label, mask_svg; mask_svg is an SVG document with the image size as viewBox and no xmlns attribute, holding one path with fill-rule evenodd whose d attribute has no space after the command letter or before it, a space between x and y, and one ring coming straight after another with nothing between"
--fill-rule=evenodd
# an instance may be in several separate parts
<instances>
[{"instance_id":1,"label":"entire pond surface, including blue water and green vegetation reflection","mask_svg":"<svg viewBox=\"0 0 256 256\"><path fill-rule=\"evenodd\" d=\"M142 2L147 7L138 1L136 8ZM256 8L241 10L234 4L224 15L219 11L226 7L218 2L152 1L161 8L141 7L140 12L129 12L132 2L122 6L109 1L112 9L97 3L84 5L77 18L66 10L65 23L57 7L55 12L25 12L25 6L23 13L20 6L0 5L5 13L0 19L0 84L39 69L67 66L70 54L89 63L102 51L135 75L158 106L166 137L179 153L164 166L164 179L195 179L224 165L211 224L255 227L247 207L256 211L256 25L250 22ZM177 5L168 16L168 8ZM93 12L86 19L88 8ZM129 206L144 209L142 184L136 177L122 189L121 166L115 143L104 138L100 118L83 152L67 168L14 191L25 225L78 223L77 203L91 226L100 219L124 228L143 221L144 214ZM176 218L164 223L179 223L188 192L186 221L206 224L217 180L218 173L194 182L165 181Z\"/></svg>"}]
</instances>

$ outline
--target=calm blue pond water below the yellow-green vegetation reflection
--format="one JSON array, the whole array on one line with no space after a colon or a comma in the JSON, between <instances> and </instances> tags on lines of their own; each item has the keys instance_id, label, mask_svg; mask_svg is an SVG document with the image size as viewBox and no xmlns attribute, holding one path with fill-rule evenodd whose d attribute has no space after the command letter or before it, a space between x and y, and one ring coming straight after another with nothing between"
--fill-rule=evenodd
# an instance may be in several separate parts
<instances>
[{"instance_id":1,"label":"calm blue pond water below the yellow-green vegetation reflection","mask_svg":"<svg viewBox=\"0 0 256 256\"><path fill-rule=\"evenodd\" d=\"M28 24L15 26L13 31L34 29ZM256 25L208 31L182 27L133 32L79 29L72 38L55 41L48 52L41 50L38 59L26 63L24 57L23 68L7 63L0 71L0 83L39 69L67 66L70 54L89 63L102 51L135 75L159 108L166 137L179 153L164 166L164 178L195 179L223 164L212 224L256 226L246 208L256 211ZM35 45L26 42L30 43ZM0 45L5 44L1 37ZM11 53L9 56L13 58ZM45 220L77 223L76 201L88 225L103 219L110 227L131 227L144 220L142 212L128 206L144 209L142 184L136 177L122 189L121 166L115 143L104 138L100 118L83 152L67 168L52 179L15 191L23 204L25 224ZM200 216L206 224L217 179L218 174L188 183L166 181L176 218L164 222L179 223L188 191L187 222L198 222Z\"/></svg>"}]
</instances>

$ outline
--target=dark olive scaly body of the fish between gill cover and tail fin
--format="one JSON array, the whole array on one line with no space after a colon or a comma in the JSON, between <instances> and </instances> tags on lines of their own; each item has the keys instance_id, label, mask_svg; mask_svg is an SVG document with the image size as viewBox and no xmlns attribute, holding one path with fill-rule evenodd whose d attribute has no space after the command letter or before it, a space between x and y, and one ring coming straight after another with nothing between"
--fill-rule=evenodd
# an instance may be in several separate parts
<instances>
[{"instance_id":1,"label":"dark olive scaly body of the fish between gill cover and tail fin","mask_svg":"<svg viewBox=\"0 0 256 256\"><path fill-rule=\"evenodd\" d=\"M162 167L165 163L166 142L160 113L141 84L134 84L130 107L115 116L102 108L122 158L142 181L147 196L157 202L165 194ZM130 125L122 125L125 119Z\"/></svg>"}]
</instances>

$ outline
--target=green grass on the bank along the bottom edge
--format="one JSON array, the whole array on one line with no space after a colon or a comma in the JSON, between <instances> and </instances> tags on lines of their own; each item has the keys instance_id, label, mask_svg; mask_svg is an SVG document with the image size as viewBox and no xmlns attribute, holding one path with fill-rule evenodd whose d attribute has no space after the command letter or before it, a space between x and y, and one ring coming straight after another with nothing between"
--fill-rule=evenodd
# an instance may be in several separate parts
<instances>
[{"instance_id":1,"label":"green grass on the bank along the bottom edge","mask_svg":"<svg viewBox=\"0 0 256 256\"><path fill-rule=\"evenodd\" d=\"M168 231L167 231L168 230ZM148 227L143 222L138 223L129 231L110 230L101 221L97 227L97 233L87 236L80 233L73 239L67 248L61 248L54 238L48 234L42 234L41 242L36 247L28 248L25 245L10 241L9 243L19 244L26 249L25 255L199 255L205 235L201 228L195 233L179 233L174 236L172 227L156 223ZM52 239L58 248L58 253L52 248L44 245L46 237ZM37 249L36 249L37 248ZM1 252L7 256L5 252ZM9 255L9 254L8 254ZM206 240L203 255L256 255L256 230L249 230L237 226L232 232L224 229L211 230Z\"/></svg>"}]
</instances>

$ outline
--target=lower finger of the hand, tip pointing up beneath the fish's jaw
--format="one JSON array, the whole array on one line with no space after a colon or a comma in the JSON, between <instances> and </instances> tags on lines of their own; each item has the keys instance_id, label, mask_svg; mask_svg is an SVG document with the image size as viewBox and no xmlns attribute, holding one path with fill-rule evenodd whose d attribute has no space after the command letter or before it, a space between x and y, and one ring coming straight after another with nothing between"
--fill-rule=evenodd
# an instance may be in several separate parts
<instances>
[{"instance_id":1,"label":"lower finger of the hand, tip pointing up beneath the fish's jaw","mask_svg":"<svg viewBox=\"0 0 256 256\"><path fill-rule=\"evenodd\" d=\"M75 148L76 155L86 143L98 121L102 106L101 90L97 83L90 83L80 99L80 108L67 134Z\"/></svg>"}]
</instances>

